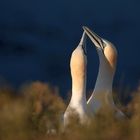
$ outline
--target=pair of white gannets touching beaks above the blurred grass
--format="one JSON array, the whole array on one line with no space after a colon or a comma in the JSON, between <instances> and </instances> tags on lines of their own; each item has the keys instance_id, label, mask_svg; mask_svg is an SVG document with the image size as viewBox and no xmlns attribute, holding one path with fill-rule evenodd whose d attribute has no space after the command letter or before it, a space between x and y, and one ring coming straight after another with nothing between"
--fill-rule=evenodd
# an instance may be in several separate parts
<instances>
[{"instance_id":1,"label":"pair of white gannets touching beaks above the blurred grass","mask_svg":"<svg viewBox=\"0 0 140 140\"><path fill-rule=\"evenodd\" d=\"M72 97L64 113L64 126L69 124L73 114L78 115L81 124L88 124L90 119L102 107L114 110L117 117L124 114L115 106L112 97L112 83L116 70L117 50L115 46L99 37L87 27L77 48L72 52L70 69L72 77ZM99 72L91 97L86 100L86 35L94 43L99 56Z\"/></svg>"}]
</instances>

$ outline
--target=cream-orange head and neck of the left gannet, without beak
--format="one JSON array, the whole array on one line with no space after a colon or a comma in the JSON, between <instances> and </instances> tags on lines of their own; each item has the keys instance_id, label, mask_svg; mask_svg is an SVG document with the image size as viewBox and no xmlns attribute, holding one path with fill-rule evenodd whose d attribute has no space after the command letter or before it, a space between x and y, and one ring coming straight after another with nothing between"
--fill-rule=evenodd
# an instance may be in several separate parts
<instances>
[{"instance_id":1,"label":"cream-orange head and neck of the left gannet, without beak","mask_svg":"<svg viewBox=\"0 0 140 140\"><path fill-rule=\"evenodd\" d=\"M86 103L86 64L87 59L83 49L77 47L72 53L70 67L72 77L72 97L73 105Z\"/></svg>"}]
</instances>

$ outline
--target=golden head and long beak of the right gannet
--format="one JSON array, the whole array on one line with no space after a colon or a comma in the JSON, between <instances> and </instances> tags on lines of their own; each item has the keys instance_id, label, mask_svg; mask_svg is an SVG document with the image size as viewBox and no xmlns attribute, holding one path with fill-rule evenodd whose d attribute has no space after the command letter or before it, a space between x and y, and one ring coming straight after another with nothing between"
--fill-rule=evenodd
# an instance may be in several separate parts
<instances>
[{"instance_id":1,"label":"golden head and long beak of the right gannet","mask_svg":"<svg viewBox=\"0 0 140 140\"><path fill-rule=\"evenodd\" d=\"M83 29L88 35L88 37L91 39L91 41L95 44L96 49L104 54L110 68L113 71L115 71L116 62L117 62L117 50L115 46L111 42L98 36L95 32L91 31L88 27L84 26Z\"/></svg>"}]
</instances>

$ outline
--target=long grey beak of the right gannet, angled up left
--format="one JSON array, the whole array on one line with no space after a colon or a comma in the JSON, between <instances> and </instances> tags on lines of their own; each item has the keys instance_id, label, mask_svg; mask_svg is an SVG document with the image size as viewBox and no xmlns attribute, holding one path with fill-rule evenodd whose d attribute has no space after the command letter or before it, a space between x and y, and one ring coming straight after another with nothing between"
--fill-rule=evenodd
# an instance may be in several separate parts
<instances>
[{"instance_id":1,"label":"long grey beak of the right gannet, angled up left","mask_svg":"<svg viewBox=\"0 0 140 140\"><path fill-rule=\"evenodd\" d=\"M88 35L88 37L91 39L91 41L94 43L97 49L104 49L103 46L103 40L100 36L98 36L95 32L91 31L88 27L83 26L84 31Z\"/></svg>"}]
</instances>

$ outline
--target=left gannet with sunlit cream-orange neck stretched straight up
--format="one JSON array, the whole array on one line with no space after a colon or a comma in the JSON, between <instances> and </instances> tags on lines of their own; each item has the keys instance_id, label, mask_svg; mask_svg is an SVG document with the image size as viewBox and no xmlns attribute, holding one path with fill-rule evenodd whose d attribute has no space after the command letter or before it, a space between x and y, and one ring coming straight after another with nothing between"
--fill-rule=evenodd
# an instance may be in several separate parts
<instances>
[{"instance_id":1,"label":"left gannet with sunlit cream-orange neck stretched straight up","mask_svg":"<svg viewBox=\"0 0 140 140\"><path fill-rule=\"evenodd\" d=\"M89 120L86 101L86 65L86 34L84 32L79 45L71 55L72 96L64 113L64 127L69 124L73 115L78 116L81 124L87 124Z\"/></svg>"}]
</instances>

